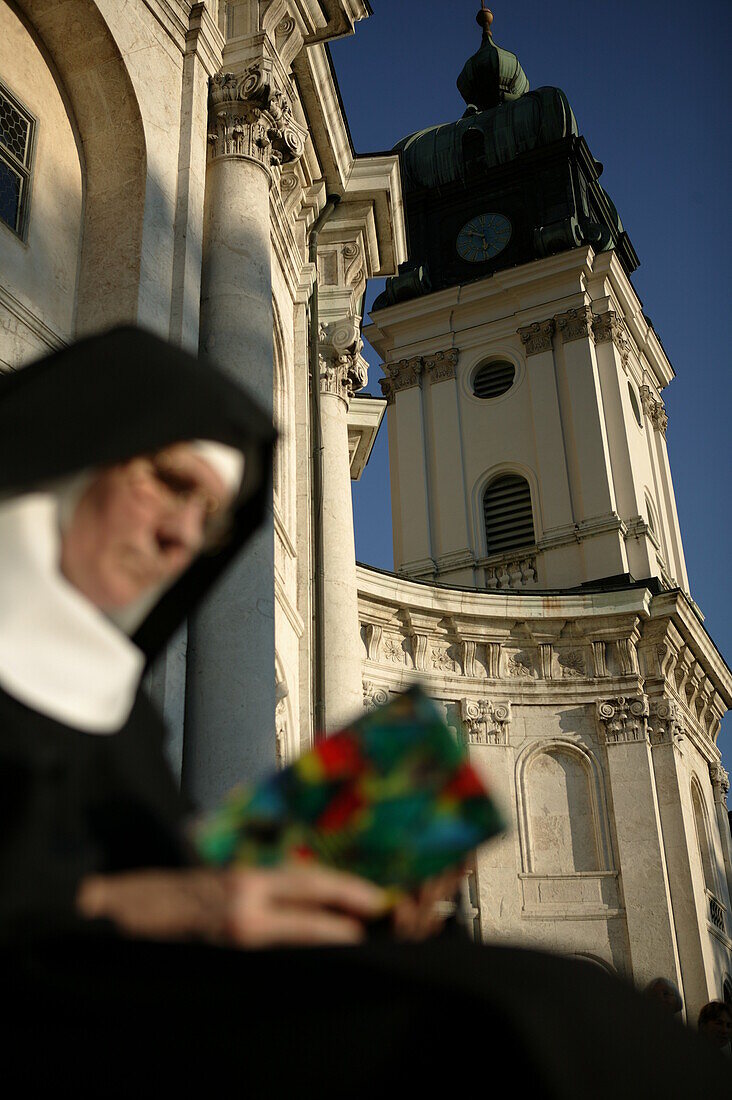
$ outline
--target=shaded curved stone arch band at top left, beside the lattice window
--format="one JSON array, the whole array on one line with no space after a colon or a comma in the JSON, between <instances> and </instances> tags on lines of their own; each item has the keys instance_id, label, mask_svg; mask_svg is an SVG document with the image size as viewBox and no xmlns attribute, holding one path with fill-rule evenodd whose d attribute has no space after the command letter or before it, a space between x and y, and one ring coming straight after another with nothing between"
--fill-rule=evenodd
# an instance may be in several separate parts
<instances>
[{"instance_id":1,"label":"shaded curved stone arch band at top left, beside the lattice window","mask_svg":"<svg viewBox=\"0 0 732 1100\"><path fill-rule=\"evenodd\" d=\"M140 107L92 0L13 0L66 91L84 163L77 334L138 317L146 147Z\"/></svg>"}]
</instances>

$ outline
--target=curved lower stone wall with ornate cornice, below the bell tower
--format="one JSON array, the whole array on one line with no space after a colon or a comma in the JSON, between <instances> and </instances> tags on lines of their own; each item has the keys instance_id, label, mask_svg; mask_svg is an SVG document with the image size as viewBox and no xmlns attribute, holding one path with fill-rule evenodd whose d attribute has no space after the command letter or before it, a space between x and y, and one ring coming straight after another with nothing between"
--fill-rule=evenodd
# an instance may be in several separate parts
<instances>
[{"instance_id":1,"label":"curved lower stone wall with ornate cornice, below the bell tower","mask_svg":"<svg viewBox=\"0 0 732 1100\"><path fill-rule=\"evenodd\" d=\"M689 1019L721 997L732 879L715 738L732 679L689 601L470 593L362 568L359 606L364 705L419 681L505 815L469 876L477 931L641 987L667 977Z\"/></svg>"}]
</instances>

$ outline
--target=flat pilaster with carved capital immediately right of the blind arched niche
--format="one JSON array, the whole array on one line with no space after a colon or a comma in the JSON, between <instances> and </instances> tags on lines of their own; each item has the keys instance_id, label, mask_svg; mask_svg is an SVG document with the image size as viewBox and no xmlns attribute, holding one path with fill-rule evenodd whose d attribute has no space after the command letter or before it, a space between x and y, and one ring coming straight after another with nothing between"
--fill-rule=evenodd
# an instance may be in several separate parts
<instances>
[{"instance_id":1,"label":"flat pilaster with carved capital immediately right of the blind arched niche","mask_svg":"<svg viewBox=\"0 0 732 1100\"><path fill-rule=\"evenodd\" d=\"M633 980L682 988L644 695L598 703L618 838Z\"/></svg>"}]
</instances>

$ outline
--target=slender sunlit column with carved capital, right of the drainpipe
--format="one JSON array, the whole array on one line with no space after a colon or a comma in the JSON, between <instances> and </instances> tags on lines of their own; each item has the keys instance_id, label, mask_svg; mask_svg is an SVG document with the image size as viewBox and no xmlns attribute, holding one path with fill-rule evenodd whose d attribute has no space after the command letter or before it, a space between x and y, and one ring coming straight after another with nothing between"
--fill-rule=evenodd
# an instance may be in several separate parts
<instances>
[{"instance_id":1,"label":"slender sunlit column with carved capital, right of the drainpipe","mask_svg":"<svg viewBox=\"0 0 732 1100\"><path fill-rule=\"evenodd\" d=\"M326 727L335 733L363 712L348 407L368 376L359 319L321 326L320 337Z\"/></svg>"}]
</instances>

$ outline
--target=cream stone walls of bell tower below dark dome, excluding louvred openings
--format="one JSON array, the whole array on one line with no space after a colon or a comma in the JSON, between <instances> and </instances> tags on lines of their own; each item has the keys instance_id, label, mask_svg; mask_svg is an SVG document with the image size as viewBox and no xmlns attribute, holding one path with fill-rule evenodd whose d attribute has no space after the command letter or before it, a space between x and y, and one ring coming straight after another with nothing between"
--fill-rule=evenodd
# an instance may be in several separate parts
<instances>
[{"instance_id":1,"label":"cream stone walls of bell tower below dark dome, excluding louvred openings","mask_svg":"<svg viewBox=\"0 0 732 1100\"><path fill-rule=\"evenodd\" d=\"M614 256L573 250L382 309L367 337L386 373L400 572L492 590L630 573L688 591L660 399L673 371ZM481 399L493 361L514 381ZM496 553L483 494L503 474L528 484L535 538Z\"/></svg>"}]
</instances>

